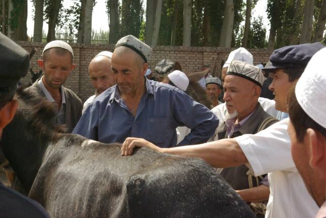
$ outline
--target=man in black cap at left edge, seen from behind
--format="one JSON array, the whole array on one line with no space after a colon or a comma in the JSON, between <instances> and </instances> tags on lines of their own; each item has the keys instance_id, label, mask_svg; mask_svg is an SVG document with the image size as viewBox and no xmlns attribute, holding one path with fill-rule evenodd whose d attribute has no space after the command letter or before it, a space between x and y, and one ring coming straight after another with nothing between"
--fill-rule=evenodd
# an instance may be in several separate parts
<instances>
[{"instance_id":1,"label":"man in black cap at left edge, seen from behind","mask_svg":"<svg viewBox=\"0 0 326 218\"><path fill-rule=\"evenodd\" d=\"M29 62L28 52L0 33L0 137L5 126L15 116L18 102L13 98L19 79L25 76L29 69ZM5 187L2 183L0 216L49 217L37 202Z\"/></svg>"}]
</instances>

